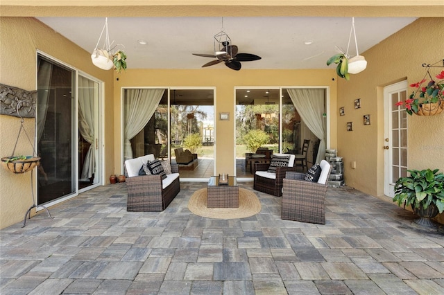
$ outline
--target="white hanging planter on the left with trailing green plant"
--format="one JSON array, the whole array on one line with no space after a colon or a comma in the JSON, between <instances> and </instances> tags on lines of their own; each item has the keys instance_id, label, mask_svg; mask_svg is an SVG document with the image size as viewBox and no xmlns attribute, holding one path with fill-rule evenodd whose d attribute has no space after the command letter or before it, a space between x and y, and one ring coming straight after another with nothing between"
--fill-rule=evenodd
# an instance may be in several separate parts
<instances>
[{"instance_id":1,"label":"white hanging planter on the left with trailing green plant","mask_svg":"<svg viewBox=\"0 0 444 295\"><path fill-rule=\"evenodd\" d=\"M103 33L105 33L105 40L103 42L103 48L99 48L100 40ZM103 70L110 70L114 67L117 73L121 73L121 70L126 70L126 54L123 51L111 52L110 35L108 33L108 17L105 19L105 25L97 41L96 48L91 55L91 60L94 66L97 66Z\"/></svg>"}]
</instances>

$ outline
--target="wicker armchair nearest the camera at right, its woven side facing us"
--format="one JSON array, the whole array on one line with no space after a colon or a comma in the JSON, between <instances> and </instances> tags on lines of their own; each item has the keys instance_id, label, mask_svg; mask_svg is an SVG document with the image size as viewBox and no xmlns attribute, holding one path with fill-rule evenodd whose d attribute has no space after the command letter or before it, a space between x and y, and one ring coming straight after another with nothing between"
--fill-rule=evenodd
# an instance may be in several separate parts
<instances>
[{"instance_id":1,"label":"wicker armchair nearest the camera at right, its woven side facing us","mask_svg":"<svg viewBox=\"0 0 444 295\"><path fill-rule=\"evenodd\" d=\"M332 166L325 160L320 166L318 182L305 181L305 173L287 172L282 189L283 220L325 224L325 195Z\"/></svg>"}]
</instances>

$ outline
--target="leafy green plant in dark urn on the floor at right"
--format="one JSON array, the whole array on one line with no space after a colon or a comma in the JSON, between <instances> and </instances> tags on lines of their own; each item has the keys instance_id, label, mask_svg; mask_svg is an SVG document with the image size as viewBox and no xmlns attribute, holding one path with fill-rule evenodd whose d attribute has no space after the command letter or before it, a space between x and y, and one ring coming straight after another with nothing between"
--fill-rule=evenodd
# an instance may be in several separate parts
<instances>
[{"instance_id":1,"label":"leafy green plant in dark urn on the floor at right","mask_svg":"<svg viewBox=\"0 0 444 295\"><path fill-rule=\"evenodd\" d=\"M435 170L407 170L409 177L400 177L395 183L393 202L411 206L420 216L416 224L432 226L430 218L444 211L444 174Z\"/></svg>"}]
</instances>

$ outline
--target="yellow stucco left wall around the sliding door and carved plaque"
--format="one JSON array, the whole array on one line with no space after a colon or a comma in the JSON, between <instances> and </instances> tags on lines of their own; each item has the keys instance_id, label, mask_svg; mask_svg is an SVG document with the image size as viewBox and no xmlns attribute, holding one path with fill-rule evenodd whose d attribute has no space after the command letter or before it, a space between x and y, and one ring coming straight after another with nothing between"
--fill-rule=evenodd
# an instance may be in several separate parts
<instances>
[{"instance_id":1,"label":"yellow stucco left wall around the sliding door and carved plaque","mask_svg":"<svg viewBox=\"0 0 444 295\"><path fill-rule=\"evenodd\" d=\"M0 17L0 83L28 91L36 90L37 49L105 82L105 114L112 112L112 71L92 65L90 53L76 46L44 24L28 17ZM108 103L106 103L108 102ZM0 155L10 156L19 132L20 119L0 115ZM26 132L35 136L35 118L25 119ZM105 159L112 158L112 116L105 116ZM20 137L16 154L33 154L26 136ZM105 166L105 175L114 172L114 163ZM35 173L36 170L33 171ZM34 180L36 177L34 177ZM34 183L35 190L36 182ZM36 193L35 193L36 195ZM31 172L15 175L0 170L0 228L23 220L32 205Z\"/></svg>"}]
</instances>

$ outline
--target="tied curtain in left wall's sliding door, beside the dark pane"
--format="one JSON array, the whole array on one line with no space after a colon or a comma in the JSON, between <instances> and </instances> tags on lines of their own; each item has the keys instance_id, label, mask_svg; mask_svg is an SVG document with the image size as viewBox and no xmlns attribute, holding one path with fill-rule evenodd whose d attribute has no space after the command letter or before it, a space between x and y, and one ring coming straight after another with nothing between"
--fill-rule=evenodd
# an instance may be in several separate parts
<instances>
[{"instance_id":1,"label":"tied curtain in left wall's sliding door, beside the dark pane","mask_svg":"<svg viewBox=\"0 0 444 295\"><path fill-rule=\"evenodd\" d=\"M94 151L94 102L95 83L85 77L78 76L78 131L89 143L89 150L83 162L80 179L87 180L92 177L96 169Z\"/></svg>"}]
</instances>

